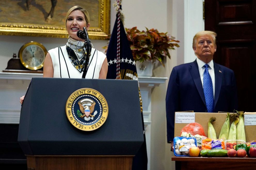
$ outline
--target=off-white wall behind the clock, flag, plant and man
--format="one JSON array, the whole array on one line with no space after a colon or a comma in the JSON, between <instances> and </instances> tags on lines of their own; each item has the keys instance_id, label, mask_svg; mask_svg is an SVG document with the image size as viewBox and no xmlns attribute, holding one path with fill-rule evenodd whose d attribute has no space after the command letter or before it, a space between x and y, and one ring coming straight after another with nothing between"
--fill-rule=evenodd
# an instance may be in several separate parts
<instances>
[{"instance_id":1,"label":"off-white wall behind the clock, flag, plant and man","mask_svg":"<svg viewBox=\"0 0 256 170\"><path fill-rule=\"evenodd\" d=\"M153 76L168 77L174 66L193 61L194 53L189 48L197 31L203 30L201 16L203 0L123 0L122 8L125 15L125 27L137 26L139 30L155 28L161 32L168 32L180 40L179 48L171 51L171 60L167 59L165 68L158 66L153 70ZM111 4L114 0L111 0ZM191 12L192 11L192 12ZM116 19L116 11L111 7L111 31ZM192 39L191 39L192 36ZM0 71L5 69L7 61L13 52L18 53L20 47L29 41L42 43L47 50L62 46L66 39L21 37L0 35ZM100 51L107 41L92 40L94 47ZM192 49L192 48L190 48ZM189 52L188 52L189 51ZM171 161L173 153L166 142L165 95L168 80L165 84L155 87L152 91L151 108L151 169L173 169Z\"/></svg>"}]
</instances>

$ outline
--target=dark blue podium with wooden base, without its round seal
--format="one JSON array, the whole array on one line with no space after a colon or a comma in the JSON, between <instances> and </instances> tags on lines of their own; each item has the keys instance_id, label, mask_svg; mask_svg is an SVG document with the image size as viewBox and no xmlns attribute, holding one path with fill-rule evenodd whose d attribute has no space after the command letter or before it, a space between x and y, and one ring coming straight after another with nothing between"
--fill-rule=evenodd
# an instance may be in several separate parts
<instances>
[{"instance_id":1,"label":"dark blue podium with wooden base, without its round seal","mask_svg":"<svg viewBox=\"0 0 256 170\"><path fill-rule=\"evenodd\" d=\"M81 88L100 92L108 104L105 123L93 131L66 115L69 96ZM32 78L18 133L28 169L131 169L143 141L137 81Z\"/></svg>"}]
</instances>

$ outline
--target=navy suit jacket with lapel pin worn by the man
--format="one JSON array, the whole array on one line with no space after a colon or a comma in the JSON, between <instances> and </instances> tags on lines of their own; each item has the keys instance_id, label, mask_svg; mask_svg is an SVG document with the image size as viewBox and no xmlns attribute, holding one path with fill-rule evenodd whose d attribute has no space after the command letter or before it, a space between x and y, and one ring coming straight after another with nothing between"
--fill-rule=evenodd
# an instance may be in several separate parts
<instances>
[{"instance_id":1,"label":"navy suit jacket with lapel pin worn by the man","mask_svg":"<svg viewBox=\"0 0 256 170\"><path fill-rule=\"evenodd\" d=\"M234 71L215 62L213 65L215 74L214 112L233 112L238 107ZM174 138L175 112L192 110L207 112L196 60L173 68L165 101L167 141L169 142Z\"/></svg>"}]
</instances>

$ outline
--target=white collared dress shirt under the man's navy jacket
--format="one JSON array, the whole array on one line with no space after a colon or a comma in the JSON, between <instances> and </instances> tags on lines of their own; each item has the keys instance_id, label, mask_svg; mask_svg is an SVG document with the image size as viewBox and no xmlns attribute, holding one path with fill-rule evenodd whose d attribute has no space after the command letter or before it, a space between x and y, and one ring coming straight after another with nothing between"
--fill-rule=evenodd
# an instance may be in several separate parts
<instances>
[{"instance_id":1,"label":"white collared dress shirt under the man's navy jacket","mask_svg":"<svg viewBox=\"0 0 256 170\"><path fill-rule=\"evenodd\" d=\"M196 62L198 65L198 69L199 69L199 74L200 74L200 78L201 78L201 82L202 82L202 86L204 88L204 71L205 71L205 64L208 64L208 71L209 74L211 76L212 79L212 87L213 87L213 99L214 99L214 94L215 94L215 74L214 74L214 67L213 67L213 60L211 60L208 63L203 62L202 60L200 60L199 58L196 58Z\"/></svg>"}]
</instances>

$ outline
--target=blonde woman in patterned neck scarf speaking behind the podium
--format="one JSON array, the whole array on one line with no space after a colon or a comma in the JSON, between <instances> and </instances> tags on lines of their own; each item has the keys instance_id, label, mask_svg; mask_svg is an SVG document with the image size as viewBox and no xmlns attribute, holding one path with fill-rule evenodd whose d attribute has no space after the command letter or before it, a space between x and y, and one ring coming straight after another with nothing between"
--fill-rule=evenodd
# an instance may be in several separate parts
<instances>
[{"instance_id":1,"label":"blonde woman in patterned neck scarf speaking behind the podium","mask_svg":"<svg viewBox=\"0 0 256 170\"><path fill-rule=\"evenodd\" d=\"M77 31L90 26L89 13L80 6L73 6L66 15L66 30L69 34L65 46L48 51L44 60L43 77L82 78L86 54L89 52L89 62L85 78L106 79L108 64L106 55L93 48L90 49L84 40L77 37ZM23 103L25 96L20 97Z\"/></svg>"}]
</instances>

